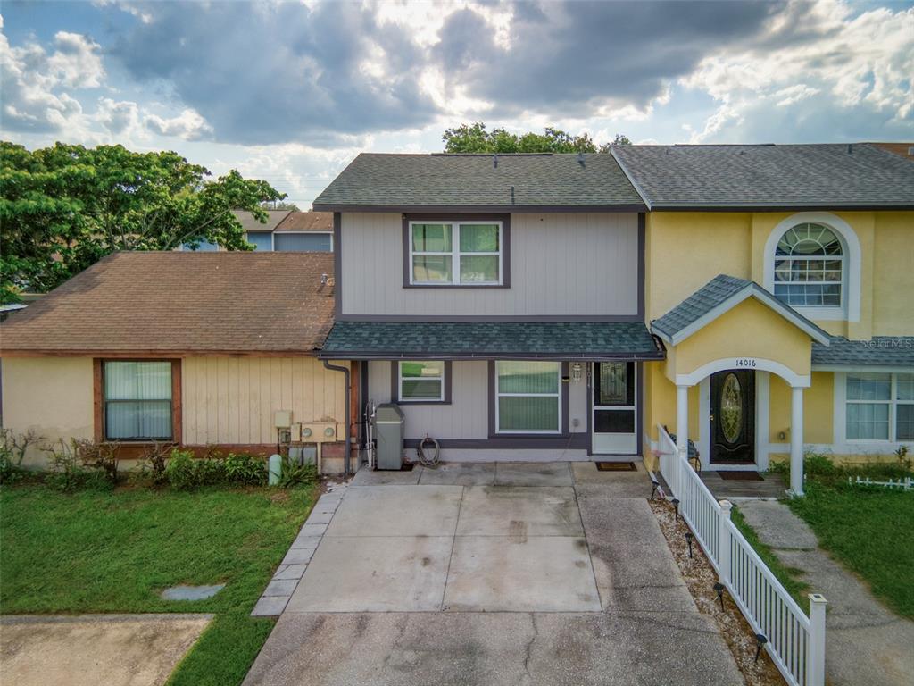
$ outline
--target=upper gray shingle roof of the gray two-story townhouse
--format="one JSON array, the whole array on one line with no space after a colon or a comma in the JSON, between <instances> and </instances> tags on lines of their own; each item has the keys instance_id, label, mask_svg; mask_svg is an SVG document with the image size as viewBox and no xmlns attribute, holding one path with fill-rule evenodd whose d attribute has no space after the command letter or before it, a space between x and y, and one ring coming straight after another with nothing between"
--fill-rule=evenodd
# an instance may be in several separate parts
<instances>
[{"instance_id":1,"label":"upper gray shingle roof of the gray two-story townhouse","mask_svg":"<svg viewBox=\"0 0 914 686\"><path fill-rule=\"evenodd\" d=\"M643 207L612 155L377 155L362 153L314 209L548 206ZM514 198L511 189L514 188Z\"/></svg>"}]
</instances>

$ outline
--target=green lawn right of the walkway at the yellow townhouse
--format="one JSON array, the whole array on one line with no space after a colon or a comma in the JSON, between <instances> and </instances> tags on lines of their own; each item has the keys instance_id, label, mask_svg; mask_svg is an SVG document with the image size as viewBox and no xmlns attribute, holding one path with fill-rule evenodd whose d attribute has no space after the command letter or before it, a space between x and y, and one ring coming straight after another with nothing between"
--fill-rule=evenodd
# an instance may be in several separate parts
<instances>
[{"instance_id":1,"label":"green lawn right of the walkway at the yellow townhouse","mask_svg":"<svg viewBox=\"0 0 914 686\"><path fill-rule=\"evenodd\" d=\"M914 493L823 479L809 483L806 497L788 505L874 595L914 619Z\"/></svg>"}]
</instances>

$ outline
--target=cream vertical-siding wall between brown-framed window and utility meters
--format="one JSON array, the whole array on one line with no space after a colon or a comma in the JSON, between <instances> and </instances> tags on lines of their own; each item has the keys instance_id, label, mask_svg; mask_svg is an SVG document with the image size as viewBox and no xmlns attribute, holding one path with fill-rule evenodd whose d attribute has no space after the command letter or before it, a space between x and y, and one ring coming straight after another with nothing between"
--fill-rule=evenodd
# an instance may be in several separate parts
<instances>
[{"instance_id":1,"label":"cream vertical-siding wall between brown-framed window and utility meters","mask_svg":"<svg viewBox=\"0 0 914 686\"><path fill-rule=\"evenodd\" d=\"M275 443L276 410L343 431L343 374L314 358L187 358L181 383L186 445Z\"/></svg>"}]
</instances>

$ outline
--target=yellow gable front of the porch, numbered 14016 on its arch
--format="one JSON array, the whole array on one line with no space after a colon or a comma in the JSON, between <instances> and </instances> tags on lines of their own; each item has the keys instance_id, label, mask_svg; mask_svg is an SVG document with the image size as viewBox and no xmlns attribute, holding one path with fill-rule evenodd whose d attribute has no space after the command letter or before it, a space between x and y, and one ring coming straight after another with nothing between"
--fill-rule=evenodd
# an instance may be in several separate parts
<instances>
[{"instance_id":1,"label":"yellow gable front of the porch, numbered 14016 on its arch","mask_svg":"<svg viewBox=\"0 0 914 686\"><path fill-rule=\"evenodd\" d=\"M666 360L666 376L689 374L723 358L763 358L780 362L796 374L810 373L812 341L768 305L748 298L696 331Z\"/></svg>"}]
</instances>

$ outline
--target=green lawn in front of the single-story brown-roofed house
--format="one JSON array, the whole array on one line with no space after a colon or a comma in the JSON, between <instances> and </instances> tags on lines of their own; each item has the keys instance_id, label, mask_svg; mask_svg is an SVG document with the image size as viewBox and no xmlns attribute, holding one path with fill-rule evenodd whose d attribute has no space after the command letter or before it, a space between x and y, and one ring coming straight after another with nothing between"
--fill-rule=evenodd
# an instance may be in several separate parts
<instances>
[{"instance_id":1,"label":"green lawn in front of the single-story brown-roofed house","mask_svg":"<svg viewBox=\"0 0 914 686\"><path fill-rule=\"evenodd\" d=\"M0 488L0 612L211 612L174 686L238 684L269 635L249 616L314 503L314 488ZM175 584L226 584L193 603Z\"/></svg>"}]
</instances>

